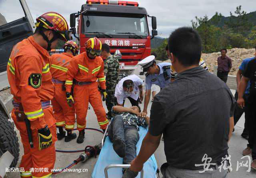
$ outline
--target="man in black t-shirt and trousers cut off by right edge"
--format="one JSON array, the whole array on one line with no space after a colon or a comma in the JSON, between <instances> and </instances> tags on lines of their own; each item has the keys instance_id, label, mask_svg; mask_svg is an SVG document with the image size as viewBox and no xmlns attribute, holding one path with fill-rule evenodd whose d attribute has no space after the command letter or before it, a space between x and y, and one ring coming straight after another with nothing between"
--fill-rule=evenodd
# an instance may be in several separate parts
<instances>
[{"instance_id":1,"label":"man in black t-shirt and trousers cut off by right edge","mask_svg":"<svg viewBox=\"0 0 256 178\"><path fill-rule=\"evenodd\" d=\"M239 107L244 108L245 102L243 99L244 91L246 90L247 83L250 80L250 95L248 98L248 107L250 117L248 121L249 125L249 138L248 146L243 151L244 155L252 153L252 164L251 167L256 170L256 58L252 59L244 71L244 75L240 81L238 88L238 100L237 104Z\"/></svg>"}]
</instances>

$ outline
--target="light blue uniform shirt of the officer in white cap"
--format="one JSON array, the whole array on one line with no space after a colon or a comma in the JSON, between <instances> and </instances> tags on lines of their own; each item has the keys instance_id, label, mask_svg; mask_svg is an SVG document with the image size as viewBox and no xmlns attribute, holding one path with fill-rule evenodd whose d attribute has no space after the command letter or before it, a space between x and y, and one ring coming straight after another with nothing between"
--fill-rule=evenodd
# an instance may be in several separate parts
<instances>
[{"instance_id":1,"label":"light blue uniform shirt of the officer in white cap","mask_svg":"<svg viewBox=\"0 0 256 178\"><path fill-rule=\"evenodd\" d=\"M146 77L146 90L150 90L152 84L158 85L160 88L163 88L171 82L171 79L168 79L168 80L164 79L164 69L163 69L164 66L170 66L171 63L163 62L157 65L160 68L160 73L159 75L150 74ZM171 77L171 69L166 69L166 71L168 76Z\"/></svg>"}]
</instances>

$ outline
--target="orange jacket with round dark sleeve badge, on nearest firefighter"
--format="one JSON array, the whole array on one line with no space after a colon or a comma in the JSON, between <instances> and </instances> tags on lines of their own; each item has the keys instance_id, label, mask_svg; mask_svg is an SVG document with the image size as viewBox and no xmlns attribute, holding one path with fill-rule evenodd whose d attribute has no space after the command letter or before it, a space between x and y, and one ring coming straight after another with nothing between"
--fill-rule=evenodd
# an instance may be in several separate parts
<instances>
[{"instance_id":1,"label":"orange jacket with round dark sleeve badge, on nearest firefighter","mask_svg":"<svg viewBox=\"0 0 256 178\"><path fill-rule=\"evenodd\" d=\"M54 96L49 57L48 51L30 36L13 47L7 65L14 101L22 103L27 118L33 121L32 129L45 127L41 101Z\"/></svg>"}]
</instances>

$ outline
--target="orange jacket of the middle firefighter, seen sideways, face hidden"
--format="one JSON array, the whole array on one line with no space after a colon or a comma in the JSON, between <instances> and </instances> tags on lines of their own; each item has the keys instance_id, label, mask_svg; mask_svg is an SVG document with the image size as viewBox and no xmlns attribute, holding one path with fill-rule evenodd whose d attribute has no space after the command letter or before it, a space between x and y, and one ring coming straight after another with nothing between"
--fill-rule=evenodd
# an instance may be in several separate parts
<instances>
[{"instance_id":1,"label":"orange jacket of the middle firefighter, seen sideways, face hidden","mask_svg":"<svg viewBox=\"0 0 256 178\"><path fill-rule=\"evenodd\" d=\"M61 53L61 54L53 54L50 57L50 64L51 64L51 73L52 78L57 79L60 81L66 81L67 79L67 71L68 71L68 64L70 60L74 57L72 54L69 53Z\"/></svg>"}]
</instances>

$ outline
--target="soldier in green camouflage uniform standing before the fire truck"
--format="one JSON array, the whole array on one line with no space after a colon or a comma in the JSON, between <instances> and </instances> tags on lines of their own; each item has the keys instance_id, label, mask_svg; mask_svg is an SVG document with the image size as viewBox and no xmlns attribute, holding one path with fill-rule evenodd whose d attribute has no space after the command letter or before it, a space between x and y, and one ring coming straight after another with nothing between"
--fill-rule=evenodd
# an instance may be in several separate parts
<instances>
[{"instance_id":1,"label":"soldier in green camouflage uniform standing before the fire truck","mask_svg":"<svg viewBox=\"0 0 256 178\"><path fill-rule=\"evenodd\" d=\"M101 55L103 58L106 58L104 61L104 75L106 76L106 92L108 94L106 97L106 105L108 108L107 117L110 119L111 109L113 106L117 105L114 94L119 79L119 61L117 57L110 54L110 47L108 44L102 44Z\"/></svg>"}]
</instances>

